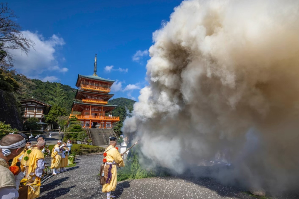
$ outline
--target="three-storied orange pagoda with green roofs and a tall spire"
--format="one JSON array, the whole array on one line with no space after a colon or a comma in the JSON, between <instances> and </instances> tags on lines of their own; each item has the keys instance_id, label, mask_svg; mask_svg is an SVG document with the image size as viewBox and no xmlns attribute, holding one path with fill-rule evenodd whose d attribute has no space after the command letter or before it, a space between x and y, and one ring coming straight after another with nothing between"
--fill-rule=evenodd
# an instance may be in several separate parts
<instances>
[{"instance_id":1,"label":"three-storied orange pagoda with green roofs and a tall spire","mask_svg":"<svg viewBox=\"0 0 299 199\"><path fill-rule=\"evenodd\" d=\"M112 128L113 123L119 121L119 117L113 117L111 113L116 105L107 105L107 101L114 95L109 94L113 83L114 80L97 76L97 55L95 55L94 74L87 76L78 74L75 99L82 102L73 102L70 118L75 116L86 128L95 128L96 125L99 125L99 128ZM81 114L73 114L73 111L79 111ZM106 116L106 113L110 113L110 116Z\"/></svg>"}]
</instances>

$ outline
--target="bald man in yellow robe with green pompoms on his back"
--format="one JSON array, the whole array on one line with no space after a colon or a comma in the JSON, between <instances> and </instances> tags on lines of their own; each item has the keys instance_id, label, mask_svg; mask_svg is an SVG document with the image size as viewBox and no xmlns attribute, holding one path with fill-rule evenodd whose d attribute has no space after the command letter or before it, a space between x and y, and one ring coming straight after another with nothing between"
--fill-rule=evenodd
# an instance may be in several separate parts
<instances>
[{"instance_id":1,"label":"bald man in yellow robe with green pompoms on his back","mask_svg":"<svg viewBox=\"0 0 299 199\"><path fill-rule=\"evenodd\" d=\"M33 184L33 188L29 187L27 199L33 199L39 197L40 192L40 179L42 178L43 170L45 169L45 156L42 153L42 149L45 147L46 141L39 140L35 147L31 148L31 153L29 154L29 167L28 176L26 176L29 181L28 183ZM37 184L37 186L34 186Z\"/></svg>"}]
</instances>

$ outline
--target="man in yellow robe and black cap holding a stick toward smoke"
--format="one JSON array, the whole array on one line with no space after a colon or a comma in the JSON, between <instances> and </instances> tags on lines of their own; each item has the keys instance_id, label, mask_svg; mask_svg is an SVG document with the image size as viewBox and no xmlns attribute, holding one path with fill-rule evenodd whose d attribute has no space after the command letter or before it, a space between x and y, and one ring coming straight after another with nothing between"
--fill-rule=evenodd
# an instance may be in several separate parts
<instances>
[{"instance_id":1,"label":"man in yellow robe and black cap holding a stick toward smoke","mask_svg":"<svg viewBox=\"0 0 299 199\"><path fill-rule=\"evenodd\" d=\"M115 196L111 195L112 191L115 191L117 184L117 169L116 167L125 166L123 162L122 155L115 149L116 146L116 138L110 138L110 146L108 146L105 150L107 154L104 159L106 159L105 167L109 166L108 169L108 178L106 183L103 185L102 192L106 193L106 198L115 198Z\"/></svg>"}]
</instances>

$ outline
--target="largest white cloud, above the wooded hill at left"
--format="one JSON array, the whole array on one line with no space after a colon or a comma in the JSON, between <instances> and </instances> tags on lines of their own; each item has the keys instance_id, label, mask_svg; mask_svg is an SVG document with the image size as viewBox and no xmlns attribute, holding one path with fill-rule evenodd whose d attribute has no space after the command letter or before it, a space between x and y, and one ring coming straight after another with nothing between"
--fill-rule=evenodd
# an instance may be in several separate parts
<instances>
[{"instance_id":1,"label":"largest white cloud, above the wooded hill at left","mask_svg":"<svg viewBox=\"0 0 299 199\"><path fill-rule=\"evenodd\" d=\"M33 33L29 30L22 31L24 37L31 39L35 45L31 48L28 56L20 50L10 50L14 59L14 68L19 73L27 76L42 74L44 71L57 71L65 73L68 68L59 66L58 58L55 56L57 48L65 44L64 40L57 35L45 39L42 34ZM63 58L62 58L63 60Z\"/></svg>"}]
</instances>

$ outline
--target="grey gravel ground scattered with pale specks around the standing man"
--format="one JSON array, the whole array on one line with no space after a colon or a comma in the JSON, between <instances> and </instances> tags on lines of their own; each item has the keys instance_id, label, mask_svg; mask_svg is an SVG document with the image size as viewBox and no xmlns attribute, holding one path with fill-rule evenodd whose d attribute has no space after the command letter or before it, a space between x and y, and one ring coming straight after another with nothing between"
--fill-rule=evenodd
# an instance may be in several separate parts
<instances>
[{"instance_id":1,"label":"grey gravel ground scattered with pale specks around the standing man","mask_svg":"<svg viewBox=\"0 0 299 199\"><path fill-rule=\"evenodd\" d=\"M58 174L42 186L40 198L105 198L97 174L102 155L79 156L77 165ZM223 186L210 178L152 177L119 182L116 198L252 198L234 187ZM284 197L285 198L285 197ZM274 199L274 198L272 198ZM275 198L276 199L276 198ZM278 199L278 198L277 198Z\"/></svg>"}]
</instances>

